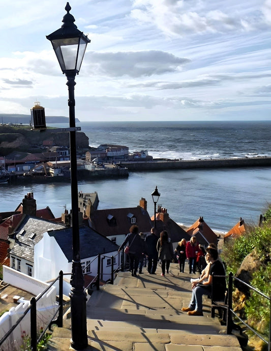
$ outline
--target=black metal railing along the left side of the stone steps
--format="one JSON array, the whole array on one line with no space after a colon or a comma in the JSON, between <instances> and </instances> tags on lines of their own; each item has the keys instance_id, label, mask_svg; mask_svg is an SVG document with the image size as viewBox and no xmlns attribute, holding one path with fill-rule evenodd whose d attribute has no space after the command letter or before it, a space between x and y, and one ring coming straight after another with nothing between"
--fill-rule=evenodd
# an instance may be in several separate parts
<instances>
[{"instance_id":1,"label":"black metal railing along the left side of the stone steps","mask_svg":"<svg viewBox=\"0 0 271 351\"><path fill-rule=\"evenodd\" d=\"M110 272L110 279L108 282L110 284L114 283L114 277L115 274L122 270L124 271L124 252L122 252L122 259L121 259L121 264L118 265L117 268L114 269L114 258L116 256L119 256L120 253L117 253L114 256L105 256L103 254L98 254L96 257L94 257L91 262L83 269L83 271L86 270L88 266L91 266L91 264L95 261L98 260L98 270L97 270L97 275L93 278L93 280L85 287L86 293L88 293L88 287L95 285L97 290L100 288L100 276L101 276L101 260L104 258L110 258L111 259L111 272ZM101 256L103 256L101 258ZM89 273L84 273L83 275L87 275ZM51 330L52 325L57 325L57 327L62 328L63 327L63 307L64 307L64 302L63 302L63 276L64 275L71 275L71 273L63 273L62 271L59 272L59 275L51 282L49 286L38 296L38 298L33 297L30 300L30 305L26 308L24 313L20 316L20 318L16 321L16 323L9 329L9 331L5 334L5 336L0 340L0 350L2 350L1 345L8 339L8 337L11 335L11 333L15 330L16 327L20 324L22 319L26 316L26 314L30 311L30 323L31 323L31 351L37 351L37 344L42 340L43 336L47 332L47 330ZM44 294L47 293L47 291L59 280L59 294L58 294L58 307L56 312L54 313L53 317L50 319L49 323L44 327L42 330L42 333L39 335L37 334L37 302L42 298ZM56 317L57 315L57 317ZM56 317L56 319L54 319Z\"/></svg>"}]
</instances>

